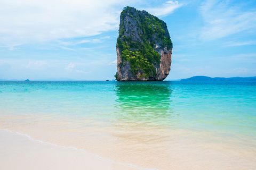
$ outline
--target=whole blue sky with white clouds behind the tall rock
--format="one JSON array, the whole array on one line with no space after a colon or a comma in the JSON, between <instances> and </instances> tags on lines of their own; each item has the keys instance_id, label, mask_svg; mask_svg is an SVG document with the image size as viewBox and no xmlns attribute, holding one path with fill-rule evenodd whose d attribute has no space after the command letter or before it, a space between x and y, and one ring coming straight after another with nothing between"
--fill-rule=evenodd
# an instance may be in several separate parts
<instances>
[{"instance_id":1,"label":"whole blue sky with white clouds behind the tall rock","mask_svg":"<svg viewBox=\"0 0 256 170\"><path fill-rule=\"evenodd\" d=\"M0 79L111 80L125 6L164 20L166 80L256 76L256 1L0 1Z\"/></svg>"}]
</instances>

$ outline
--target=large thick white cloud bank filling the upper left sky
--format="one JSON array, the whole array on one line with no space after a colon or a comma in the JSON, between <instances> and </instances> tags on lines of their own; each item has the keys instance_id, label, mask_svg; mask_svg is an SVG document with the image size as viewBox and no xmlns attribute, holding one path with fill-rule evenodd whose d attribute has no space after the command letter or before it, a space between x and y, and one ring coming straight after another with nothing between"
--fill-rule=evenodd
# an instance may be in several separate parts
<instances>
[{"instance_id":1,"label":"large thick white cloud bank filling the upper left sky","mask_svg":"<svg viewBox=\"0 0 256 170\"><path fill-rule=\"evenodd\" d=\"M0 42L24 44L117 30L118 10L124 4L124 0L1 1Z\"/></svg>"}]
</instances>

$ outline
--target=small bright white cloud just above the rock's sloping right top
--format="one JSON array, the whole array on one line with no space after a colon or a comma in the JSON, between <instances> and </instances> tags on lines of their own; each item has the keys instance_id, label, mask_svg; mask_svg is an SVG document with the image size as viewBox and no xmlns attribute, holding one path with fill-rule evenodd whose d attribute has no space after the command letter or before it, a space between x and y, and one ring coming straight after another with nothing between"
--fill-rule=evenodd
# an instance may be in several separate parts
<instances>
[{"instance_id":1,"label":"small bright white cloud just above the rock's sloping right top","mask_svg":"<svg viewBox=\"0 0 256 170\"><path fill-rule=\"evenodd\" d=\"M166 1L161 7L147 8L146 11L155 16L166 16L181 6L178 1Z\"/></svg>"}]
</instances>

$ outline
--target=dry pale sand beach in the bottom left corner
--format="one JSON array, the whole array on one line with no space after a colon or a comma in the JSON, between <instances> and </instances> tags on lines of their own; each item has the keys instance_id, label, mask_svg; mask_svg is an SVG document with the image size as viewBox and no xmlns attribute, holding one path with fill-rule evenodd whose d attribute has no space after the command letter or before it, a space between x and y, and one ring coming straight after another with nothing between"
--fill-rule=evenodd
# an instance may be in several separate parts
<instances>
[{"instance_id":1,"label":"dry pale sand beach in the bottom left corner","mask_svg":"<svg viewBox=\"0 0 256 170\"><path fill-rule=\"evenodd\" d=\"M0 130L0 150L1 169L138 169L78 149L35 142L6 130Z\"/></svg>"}]
</instances>

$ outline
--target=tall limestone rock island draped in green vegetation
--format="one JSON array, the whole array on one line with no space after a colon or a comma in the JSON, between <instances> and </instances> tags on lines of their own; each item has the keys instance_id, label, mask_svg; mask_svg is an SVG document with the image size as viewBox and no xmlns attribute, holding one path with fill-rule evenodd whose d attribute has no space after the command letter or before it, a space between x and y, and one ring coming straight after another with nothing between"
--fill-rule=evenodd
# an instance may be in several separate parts
<instances>
[{"instance_id":1,"label":"tall limestone rock island draped in green vegetation","mask_svg":"<svg viewBox=\"0 0 256 170\"><path fill-rule=\"evenodd\" d=\"M118 81L164 80L171 70L172 42L166 23L146 11L124 8L116 52Z\"/></svg>"}]
</instances>

